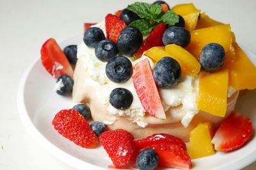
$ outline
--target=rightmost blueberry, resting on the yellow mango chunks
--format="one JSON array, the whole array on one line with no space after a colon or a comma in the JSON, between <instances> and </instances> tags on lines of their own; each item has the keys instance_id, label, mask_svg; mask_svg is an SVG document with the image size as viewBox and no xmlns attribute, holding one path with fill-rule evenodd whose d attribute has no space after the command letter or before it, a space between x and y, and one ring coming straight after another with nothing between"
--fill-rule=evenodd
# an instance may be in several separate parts
<instances>
[{"instance_id":1,"label":"rightmost blueberry, resting on the yellow mango chunks","mask_svg":"<svg viewBox=\"0 0 256 170\"><path fill-rule=\"evenodd\" d=\"M205 71L218 71L225 60L225 50L218 43L209 43L204 46L200 55L200 64Z\"/></svg>"}]
</instances>

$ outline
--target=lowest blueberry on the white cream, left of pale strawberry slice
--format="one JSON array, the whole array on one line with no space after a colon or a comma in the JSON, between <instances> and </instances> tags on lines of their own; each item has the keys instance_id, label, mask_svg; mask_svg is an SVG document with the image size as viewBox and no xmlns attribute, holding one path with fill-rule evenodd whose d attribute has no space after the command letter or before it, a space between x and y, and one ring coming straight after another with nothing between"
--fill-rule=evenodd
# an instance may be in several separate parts
<instances>
[{"instance_id":1,"label":"lowest blueberry on the white cream, left of pale strawberry slice","mask_svg":"<svg viewBox=\"0 0 256 170\"><path fill-rule=\"evenodd\" d=\"M116 88L109 95L109 103L116 109L127 109L133 101L132 93L124 88Z\"/></svg>"}]
</instances>

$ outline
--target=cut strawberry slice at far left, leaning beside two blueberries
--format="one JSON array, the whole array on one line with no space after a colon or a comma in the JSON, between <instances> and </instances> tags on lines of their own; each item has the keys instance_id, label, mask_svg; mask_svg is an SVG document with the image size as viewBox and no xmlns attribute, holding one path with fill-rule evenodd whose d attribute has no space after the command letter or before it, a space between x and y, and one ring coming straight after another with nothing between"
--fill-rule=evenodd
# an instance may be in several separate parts
<instances>
[{"instance_id":1,"label":"cut strawberry slice at far left, leaning beside two blueberries","mask_svg":"<svg viewBox=\"0 0 256 170\"><path fill-rule=\"evenodd\" d=\"M45 69L54 78L58 78L62 74L73 76L73 69L55 39L50 38L44 43L41 48L41 60Z\"/></svg>"}]
</instances>

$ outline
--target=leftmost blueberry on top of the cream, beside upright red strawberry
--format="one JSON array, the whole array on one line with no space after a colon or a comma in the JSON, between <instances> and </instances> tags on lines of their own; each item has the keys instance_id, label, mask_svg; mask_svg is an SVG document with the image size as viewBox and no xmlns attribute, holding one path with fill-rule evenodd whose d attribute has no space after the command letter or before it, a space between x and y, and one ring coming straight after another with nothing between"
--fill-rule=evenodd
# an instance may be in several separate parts
<instances>
[{"instance_id":1,"label":"leftmost blueberry on top of the cream, beside upright red strawberry","mask_svg":"<svg viewBox=\"0 0 256 170\"><path fill-rule=\"evenodd\" d=\"M104 33L98 27L90 27L84 32L84 43L89 47L95 48L103 39L105 39Z\"/></svg>"}]
</instances>

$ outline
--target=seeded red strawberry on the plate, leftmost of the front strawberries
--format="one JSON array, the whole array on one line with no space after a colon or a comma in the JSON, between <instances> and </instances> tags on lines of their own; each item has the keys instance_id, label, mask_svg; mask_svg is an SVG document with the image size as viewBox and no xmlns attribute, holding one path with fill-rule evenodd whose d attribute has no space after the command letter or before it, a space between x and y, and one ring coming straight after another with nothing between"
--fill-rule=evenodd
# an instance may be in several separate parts
<instances>
[{"instance_id":1,"label":"seeded red strawberry on the plate, leftmost of the front strawberries","mask_svg":"<svg viewBox=\"0 0 256 170\"><path fill-rule=\"evenodd\" d=\"M76 110L61 110L55 115L52 125L62 136L83 148L95 148L99 143L88 122Z\"/></svg>"}]
</instances>

